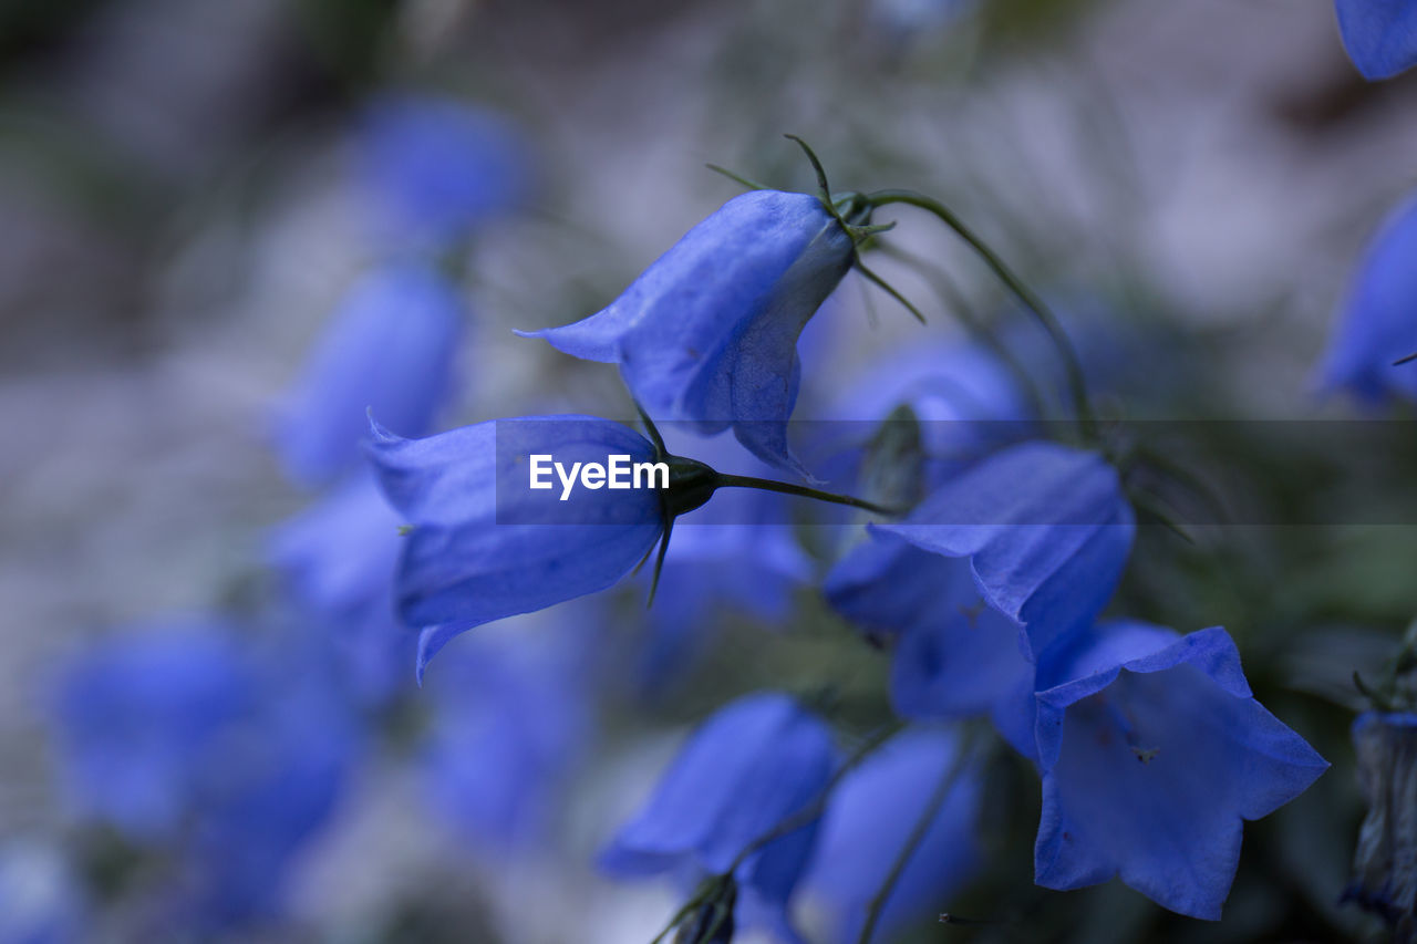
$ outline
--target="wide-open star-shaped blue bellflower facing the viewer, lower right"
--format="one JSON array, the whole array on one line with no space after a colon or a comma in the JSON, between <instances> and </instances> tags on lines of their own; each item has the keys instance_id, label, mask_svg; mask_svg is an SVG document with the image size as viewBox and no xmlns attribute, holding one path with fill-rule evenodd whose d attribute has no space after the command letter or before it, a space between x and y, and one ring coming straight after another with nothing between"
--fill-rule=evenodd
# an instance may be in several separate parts
<instances>
[{"instance_id":1,"label":"wide-open star-shaped blue bellflower facing the viewer, lower right","mask_svg":"<svg viewBox=\"0 0 1417 944\"><path fill-rule=\"evenodd\" d=\"M1328 763L1254 700L1219 626L1102 624L1046 662L1036 882L1121 876L1173 911L1219 918L1243 821L1298 797Z\"/></svg>"}]
</instances>

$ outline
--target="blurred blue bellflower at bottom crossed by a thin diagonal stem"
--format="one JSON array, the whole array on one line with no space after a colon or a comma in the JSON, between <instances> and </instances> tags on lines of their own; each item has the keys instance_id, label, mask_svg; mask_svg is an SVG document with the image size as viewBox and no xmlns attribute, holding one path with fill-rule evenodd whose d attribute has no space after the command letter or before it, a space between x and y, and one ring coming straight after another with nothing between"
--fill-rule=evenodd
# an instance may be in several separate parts
<instances>
[{"instance_id":1,"label":"blurred blue bellflower at bottom crossed by a thin diagonal stem","mask_svg":"<svg viewBox=\"0 0 1417 944\"><path fill-rule=\"evenodd\" d=\"M958 760L959 738L952 731L907 730L832 790L801 890L833 917L832 940L845 944L860 938L871 899ZM973 876L981 859L975 821L982 787L976 770L961 771L897 877L873 941L893 940L903 926L928 920Z\"/></svg>"}]
</instances>

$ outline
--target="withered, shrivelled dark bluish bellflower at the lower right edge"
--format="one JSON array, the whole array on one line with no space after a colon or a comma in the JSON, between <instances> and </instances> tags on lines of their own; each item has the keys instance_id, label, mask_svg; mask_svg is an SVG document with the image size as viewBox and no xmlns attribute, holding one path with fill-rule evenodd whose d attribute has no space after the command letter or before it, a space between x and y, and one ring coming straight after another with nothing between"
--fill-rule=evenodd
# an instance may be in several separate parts
<instances>
[{"instance_id":1,"label":"withered, shrivelled dark bluish bellflower at the lower right edge","mask_svg":"<svg viewBox=\"0 0 1417 944\"><path fill-rule=\"evenodd\" d=\"M1417 714L1363 712L1353 720L1353 750L1367 815L1343 897L1410 935L1417 926L1417 836L1408 826L1417 812Z\"/></svg>"}]
</instances>

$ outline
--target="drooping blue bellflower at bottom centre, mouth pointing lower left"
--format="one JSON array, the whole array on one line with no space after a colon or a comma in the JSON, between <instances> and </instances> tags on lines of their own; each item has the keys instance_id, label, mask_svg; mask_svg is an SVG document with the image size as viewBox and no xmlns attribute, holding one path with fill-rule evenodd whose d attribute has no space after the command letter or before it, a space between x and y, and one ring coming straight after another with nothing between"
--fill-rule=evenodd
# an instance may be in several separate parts
<instances>
[{"instance_id":1,"label":"drooping blue bellflower at bottom centre, mouth pointing lower left","mask_svg":"<svg viewBox=\"0 0 1417 944\"><path fill-rule=\"evenodd\" d=\"M750 843L805 811L833 765L826 726L791 697L741 697L694 733L601 865L622 877L721 875ZM818 824L774 839L738 866L738 927L767 921L795 938L786 903L808 865Z\"/></svg>"}]
</instances>

